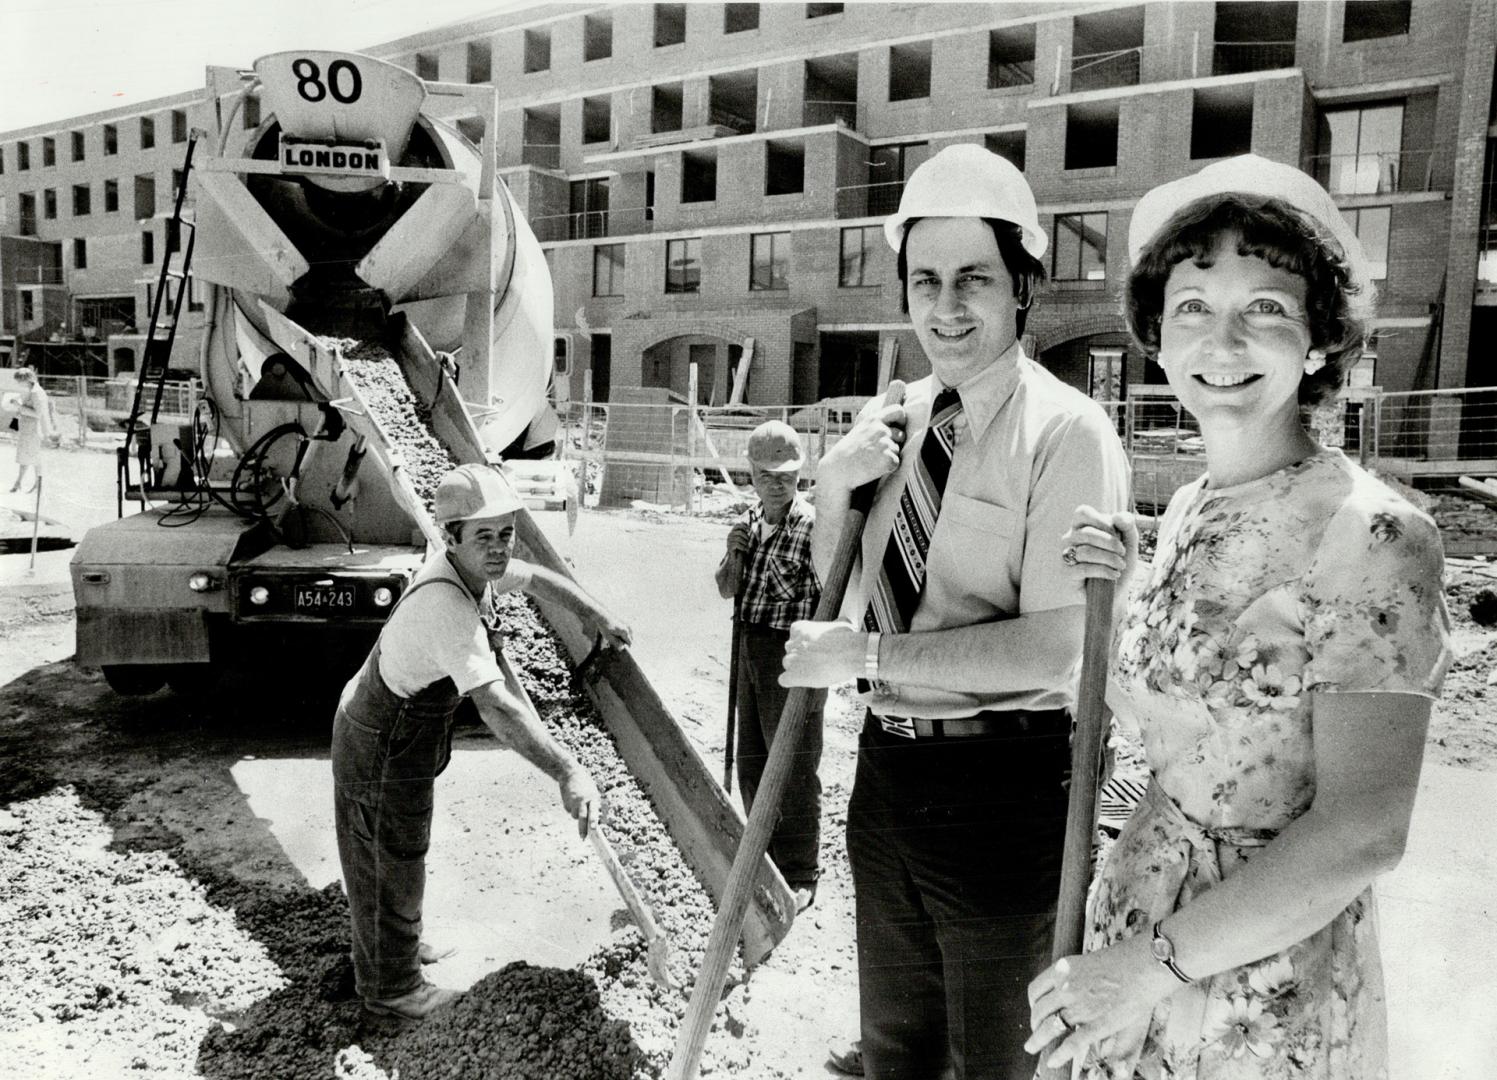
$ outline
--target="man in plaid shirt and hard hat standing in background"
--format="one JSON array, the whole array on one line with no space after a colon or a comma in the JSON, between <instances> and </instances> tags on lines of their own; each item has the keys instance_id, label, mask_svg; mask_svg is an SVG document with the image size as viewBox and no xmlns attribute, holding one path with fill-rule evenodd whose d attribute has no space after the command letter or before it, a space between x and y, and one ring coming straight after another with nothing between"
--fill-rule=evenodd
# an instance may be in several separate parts
<instances>
[{"instance_id":1,"label":"man in plaid shirt and hard hat standing in background","mask_svg":"<svg viewBox=\"0 0 1497 1080\"><path fill-rule=\"evenodd\" d=\"M811 565L816 509L796 491L805 455L789 424L771 419L748 436L748 466L759 505L728 533L728 553L717 566L717 592L741 596L738 649L738 785L744 812L753 810L769 746L789 691L780 686L790 623L811 619L822 586ZM822 709L826 691L814 691L805 732L784 788L769 857L795 891L796 909L816 899L822 836Z\"/></svg>"}]
</instances>

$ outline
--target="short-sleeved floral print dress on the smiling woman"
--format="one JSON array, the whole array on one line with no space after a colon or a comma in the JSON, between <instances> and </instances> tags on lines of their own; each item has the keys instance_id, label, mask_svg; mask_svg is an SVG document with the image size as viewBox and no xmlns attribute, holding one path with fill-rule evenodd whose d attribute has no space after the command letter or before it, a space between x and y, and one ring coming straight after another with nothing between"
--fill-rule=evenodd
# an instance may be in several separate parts
<instances>
[{"instance_id":1,"label":"short-sleeved floral print dress on the smiling woman","mask_svg":"<svg viewBox=\"0 0 1497 1080\"><path fill-rule=\"evenodd\" d=\"M1096 884L1088 950L1148 933L1310 807L1313 692L1434 697L1449 667L1427 515L1337 449L1207 484L1171 500L1118 629L1108 703L1138 725L1153 779ZM1371 890L1305 941L1183 986L1085 1076L1385 1077Z\"/></svg>"}]
</instances>

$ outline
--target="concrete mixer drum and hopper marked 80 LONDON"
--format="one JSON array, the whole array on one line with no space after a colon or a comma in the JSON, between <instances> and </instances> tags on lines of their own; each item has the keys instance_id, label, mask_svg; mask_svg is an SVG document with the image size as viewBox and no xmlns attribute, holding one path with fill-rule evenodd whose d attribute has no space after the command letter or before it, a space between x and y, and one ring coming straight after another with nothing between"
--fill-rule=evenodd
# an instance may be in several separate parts
<instances>
[{"instance_id":1,"label":"concrete mixer drum and hopper marked 80 LONDON","mask_svg":"<svg viewBox=\"0 0 1497 1080\"><path fill-rule=\"evenodd\" d=\"M425 84L410 72L317 51L262 57L254 70L263 120L250 132L231 121L225 151L277 168L198 174L193 273L228 289L216 315L232 324L210 336L205 376L251 385L284 348L262 301L310 327L328 312L367 312L373 297L455 354L460 371L488 333L487 377L469 370L458 382L487 448L501 451L545 407L551 379L551 276L518 204L499 178L484 198L479 148L424 111ZM377 169L308 166L332 153ZM473 318L475 303L490 306L491 324Z\"/></svg>"}]
</instances>

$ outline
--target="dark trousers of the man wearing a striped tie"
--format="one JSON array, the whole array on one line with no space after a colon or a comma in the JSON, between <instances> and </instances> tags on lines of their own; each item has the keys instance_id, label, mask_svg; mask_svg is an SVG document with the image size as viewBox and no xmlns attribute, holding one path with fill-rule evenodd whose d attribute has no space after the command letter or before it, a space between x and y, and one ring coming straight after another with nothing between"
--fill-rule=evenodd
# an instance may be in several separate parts
<instances>
[{"instance_id":1,"label":"dark trousers of the man wearing a striped tie","mask_svg":"<svg viewBox=\"0 0 1497 1080\"><path fill-rule=\"evenodd\" d=\"M873 1080L1034 1074L1027 987L1054 938L1069 718L1006 716L1012 732L945 740L870 716L859 738L847 855Z\"/></svg>"}]
</instances>

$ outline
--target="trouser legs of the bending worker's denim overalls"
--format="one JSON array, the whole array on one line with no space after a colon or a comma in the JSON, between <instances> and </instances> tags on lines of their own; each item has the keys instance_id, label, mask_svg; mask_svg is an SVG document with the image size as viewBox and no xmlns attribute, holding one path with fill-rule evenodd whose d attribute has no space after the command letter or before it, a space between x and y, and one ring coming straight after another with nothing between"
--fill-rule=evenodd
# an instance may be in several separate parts
<instances>
[{"instance_id":1,"label":"trouser legs of the bending worker's denim overalls","mask_svg":"<svg viewBox=\"0 0 1497 1080\"><path fill-rule=\"evenodd\" d=\"M431 846L433 780L452 752L451 709L410 703L332 722L334 813L361 998L421 986L421 903Z\"/></svg>"}]
</instances>

